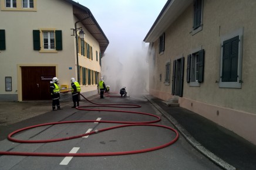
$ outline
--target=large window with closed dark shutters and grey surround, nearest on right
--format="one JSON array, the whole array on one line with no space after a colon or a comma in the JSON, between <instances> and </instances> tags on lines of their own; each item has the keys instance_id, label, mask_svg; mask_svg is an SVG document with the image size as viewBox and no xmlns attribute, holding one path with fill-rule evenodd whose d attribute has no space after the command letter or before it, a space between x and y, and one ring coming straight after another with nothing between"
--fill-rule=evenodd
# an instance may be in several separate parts
<instances>
[{"instance_id":1,"label":"large window with closed dark shutters and grey surround, nearest on right","mask_svg":"<svg viewBox=\"0 0 256 170\"><path fill-rule=\"evenodd\" d=\"M243 29L239 29L221 39L221 88L241 88L242 32Z\"/></svg>"}]
</instances>

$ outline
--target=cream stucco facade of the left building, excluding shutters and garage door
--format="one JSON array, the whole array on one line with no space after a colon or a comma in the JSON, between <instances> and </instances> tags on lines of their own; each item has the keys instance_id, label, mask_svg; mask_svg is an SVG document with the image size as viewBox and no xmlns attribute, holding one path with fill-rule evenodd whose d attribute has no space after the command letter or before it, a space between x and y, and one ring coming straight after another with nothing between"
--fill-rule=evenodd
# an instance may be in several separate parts
<instances>
[{"instance_id":1,"label":"cream stucco facade of the left building, excluding shutters and garage door","mask_svg":"<svg viewBox=\"0 0 256 170\"><path fill-rule=\"evenodd\" d=\"M19 4L21 4L21 0L17 1L16 9L6 8L5 0L1 0L0 4L0 30L4 30L6 46L4 50L0 50L1 100L22 101L22 67L55 67L55 75L59 78L59 85L70 87L70 78L78 79L76 39L75 36L72 36L72 29L75 29L75 23L79 19L74 15L74 6L84 12L86 12L86 7L76 4L76 2L63 0L34 0L32 10L23 9ZM97 26L99 27L99 25ZM87 57L87 54L81 54L80 38L77 35L81 91L82 93L86 92L87 95L95 95L97 94L97 78L101 72L100 43L81 22L78 22L77 27L82 27L85 32L84 43L89 44L90 53L92 53L90 56L93 56ZM41 32L41 50L33 49L33 30ZM43 50L42 32L44 30L52 32L61 30L61 50ZM102 32L102 34L104 33ZM83 68L85 72L82 72ZM88 70L92 76L90 83L88 83L88 76L83 75L88 74ZM5 90L5 77L11 77L11 91ZM85 82L82 82L83 78L86 79Z\"/></svg>"}]
</instances>

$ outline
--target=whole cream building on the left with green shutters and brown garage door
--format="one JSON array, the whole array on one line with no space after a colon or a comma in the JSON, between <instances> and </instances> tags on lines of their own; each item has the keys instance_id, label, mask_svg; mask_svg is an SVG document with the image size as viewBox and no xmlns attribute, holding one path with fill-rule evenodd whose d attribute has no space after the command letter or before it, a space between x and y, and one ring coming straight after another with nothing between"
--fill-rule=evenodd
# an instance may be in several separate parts
<instances>
[{"instance_id":1,"label":"whole cream building on the left with green shutters and brown garage door","mask_svg":"<svg viewBox=\"0 0 256 170\"><path fill-rule=\"evenodd\" d=\"M71 0L0 2L0 100L48 100L53 77L61 88L75 77L84 95L97 93L109 40L88 8Z\"/></svg>"}]
</instances>

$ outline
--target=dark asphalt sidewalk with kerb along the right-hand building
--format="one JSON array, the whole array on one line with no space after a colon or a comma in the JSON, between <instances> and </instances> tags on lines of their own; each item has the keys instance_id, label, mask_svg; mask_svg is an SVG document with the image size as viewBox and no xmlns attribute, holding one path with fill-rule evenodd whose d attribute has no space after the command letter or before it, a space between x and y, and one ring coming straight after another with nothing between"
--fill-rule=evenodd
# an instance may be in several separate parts
<instances>
[{"instance_id":1,"label":"dark asphalt sidewalk with kerb along the right-hand building","mask_svg":"<svg viewBox=\"0 0 256 170\"><path fill-rule=\"evenodd\" d=\"M150 95L146 98L191 145L216 164L224 169L256 169L256 145L190 110L168 107Z\"/></svg>"}]
</instances>

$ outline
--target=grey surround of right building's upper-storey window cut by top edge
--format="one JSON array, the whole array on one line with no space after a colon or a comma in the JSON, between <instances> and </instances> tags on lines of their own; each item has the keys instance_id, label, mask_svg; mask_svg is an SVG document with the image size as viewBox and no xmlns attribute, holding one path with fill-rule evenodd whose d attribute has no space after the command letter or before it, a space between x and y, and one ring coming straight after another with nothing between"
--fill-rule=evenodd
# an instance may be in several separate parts
<instances>
[{"instance_id":1,"label":"grey surround of right building's upper-storey window cut by top edge","mask_svg":"<svg viewBox=\"0 0 256 170\"><path fill-rule=\"evenodd\" d=\"M201 9L200 9L200 25L195 27L195 20L198 19L198 8L196 8L196 5L198 4L198 1L201 1ZM196 0L194 1L194 9L193 9L193 30L192 30L192 36L201 30L203 30L203 8L204 7L204 0Z\"/></svg>"}]
</instances>

